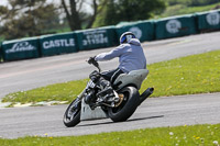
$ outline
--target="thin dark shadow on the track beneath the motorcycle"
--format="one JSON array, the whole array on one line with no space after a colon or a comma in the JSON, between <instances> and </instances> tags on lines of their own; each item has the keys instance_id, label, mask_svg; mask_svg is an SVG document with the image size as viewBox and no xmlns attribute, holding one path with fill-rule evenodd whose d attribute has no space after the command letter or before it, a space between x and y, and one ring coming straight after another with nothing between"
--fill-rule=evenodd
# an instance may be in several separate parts
<instances>
[{"instance_id":1,"label":"thin dark shadow on the track beneath the motorcycle","mask_svg":"<svg viewBox=\"0 0 220 146\"><path fill-rule=\"evenodd\" d=\"M158 117L164 117L164 115L131 119L131 120L128 120L128 121L124 121L124 122L142 121L142 120L158 119ZM78 125L78 126L95 126L95 125L106 125L106 124L111 124L111 123L121 123L121 122L102 122L102 123L85 124L85 125Z\"/></svg>"}]
</instances>

